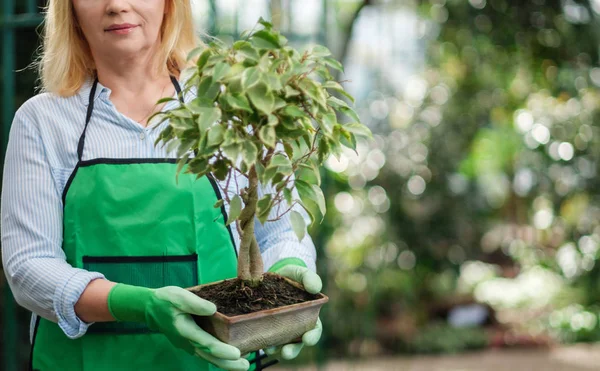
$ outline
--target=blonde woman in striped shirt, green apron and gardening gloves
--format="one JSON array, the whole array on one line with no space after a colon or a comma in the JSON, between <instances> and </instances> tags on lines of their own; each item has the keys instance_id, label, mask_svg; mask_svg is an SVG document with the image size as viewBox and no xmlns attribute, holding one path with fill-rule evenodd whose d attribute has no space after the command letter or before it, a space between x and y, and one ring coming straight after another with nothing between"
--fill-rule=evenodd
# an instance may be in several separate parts
<instances>
[{"instance_id":1,"label":"blonde woman in striped shirt, green apron and gardening gloves","mask_svg":"<svg viewBox=\"0 0 600 371\"><path fill-rule=\"evenodd\" d=\"M2 192L5 272L34 313L31 369L250 366L196 326L190 314L215 305L182 288L236 274L237 234L213 207L219 187L176 183L174 156L154 146L161 127L147 122L180 104L159 98L193 99L178 78L196 45L189 0L49 1L45 92L15 114ZM321 289L314 246L289 220L257 223L256 234L266 267ZM320 334L319 322L282 356Z\"/></svg>"}]
</instances>

